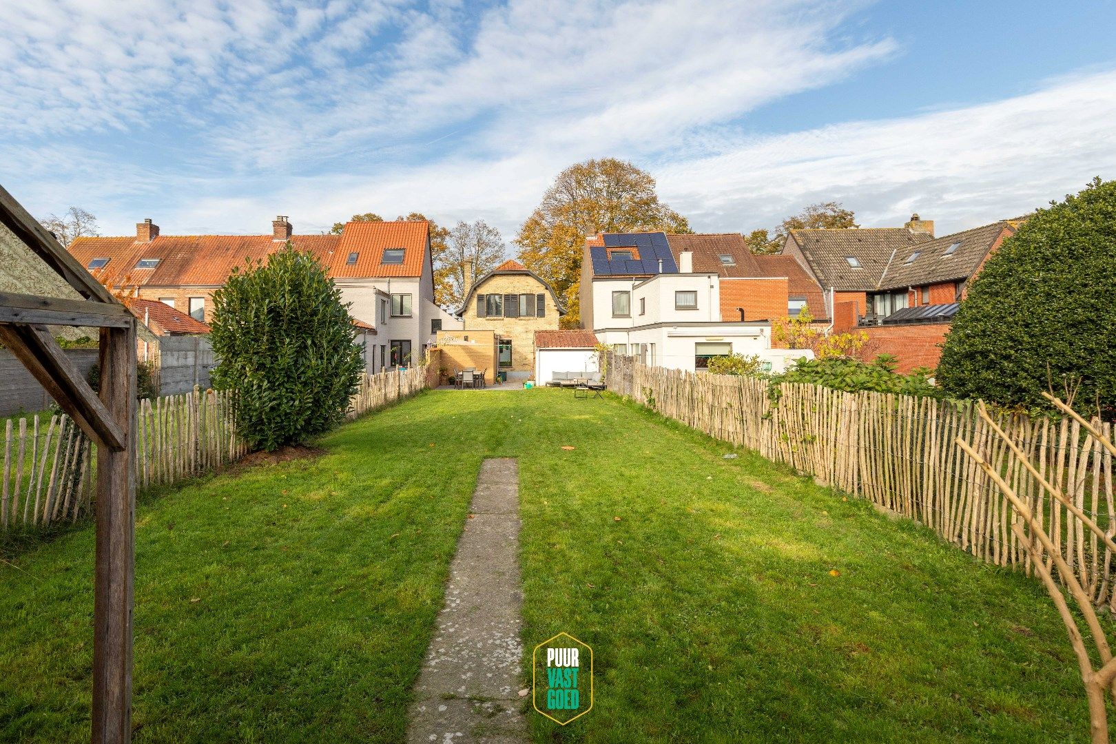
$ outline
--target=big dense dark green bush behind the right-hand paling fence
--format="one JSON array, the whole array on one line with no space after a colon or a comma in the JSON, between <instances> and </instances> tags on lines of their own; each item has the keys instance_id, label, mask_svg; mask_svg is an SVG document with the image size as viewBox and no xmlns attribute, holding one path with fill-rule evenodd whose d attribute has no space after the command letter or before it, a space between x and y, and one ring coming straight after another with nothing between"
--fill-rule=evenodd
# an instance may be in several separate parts
<instances>
[{"instance_id":1,"label":"big dense dark green bush behind the right-hand paling fence","mask_svg":"<svg viewBox=\"0 0 1116 744\"><path fill-rule=\"evenodd\" d=\"M1116 181L1037 211L972 282L937 381L955 397L1042 407L1077 386L1083 413L1116 412Z\"/></svg>"}]
</instances>

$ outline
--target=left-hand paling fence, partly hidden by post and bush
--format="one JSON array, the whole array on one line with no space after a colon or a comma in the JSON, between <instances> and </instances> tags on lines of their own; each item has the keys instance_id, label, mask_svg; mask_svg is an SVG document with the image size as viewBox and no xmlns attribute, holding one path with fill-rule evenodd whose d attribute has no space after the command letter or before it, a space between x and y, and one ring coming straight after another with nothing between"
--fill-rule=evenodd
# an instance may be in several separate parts
<instances>
[{"instance_id":1,"label":"left-hand paling fence, partly hidden by post and bush","mask_svg":"<svg viewBox=\"0 0 1116 744\"><path fill-rule=\"evenodd\" d=\"M363 375L346 417L356 418L426 386L425 367ZM172 484L248 454L237 436L231 392L140 400L136 486ZM3 432L0 529L74 522L93 506L96 446L64 414L8 418Z\"/></svg>"}]
</instances>

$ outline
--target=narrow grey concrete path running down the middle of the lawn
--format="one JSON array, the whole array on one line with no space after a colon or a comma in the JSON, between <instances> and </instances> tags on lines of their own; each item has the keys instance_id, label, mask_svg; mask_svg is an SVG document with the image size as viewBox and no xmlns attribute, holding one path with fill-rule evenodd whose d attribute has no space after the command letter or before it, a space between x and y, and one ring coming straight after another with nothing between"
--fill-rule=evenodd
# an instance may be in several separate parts
<instances>
[{"instance_id":1,"label":"narrow grey concrete path running down the middle of the lawn","mask_svg":"<svg viewBox=\"0 0 1116 744\"><path fill-rule=\"evenodd\" d=\"M484 461L470 513L415 685L413 744L527 741L514 460Z\"/></svg>"}]
</instances>

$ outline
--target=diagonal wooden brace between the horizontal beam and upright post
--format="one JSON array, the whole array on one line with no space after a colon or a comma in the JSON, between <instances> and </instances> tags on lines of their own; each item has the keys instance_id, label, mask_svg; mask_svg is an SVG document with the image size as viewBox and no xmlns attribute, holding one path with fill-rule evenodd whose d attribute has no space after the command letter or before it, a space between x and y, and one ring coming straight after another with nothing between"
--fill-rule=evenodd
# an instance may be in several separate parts
<instances>
[{"instance_id":1,"label":"diagonal wooden brace between the horizontal beam and upright post","mask_svg":"<svg viewBox=\"0 0 1116 744\"><path fill-rule=\"evenodd\" d=\"M49 330L42 326L0 325L0 341L23 363L39 385L97 443L98 448L124 448L123 429Z\"/></svg>"}]
</instances>

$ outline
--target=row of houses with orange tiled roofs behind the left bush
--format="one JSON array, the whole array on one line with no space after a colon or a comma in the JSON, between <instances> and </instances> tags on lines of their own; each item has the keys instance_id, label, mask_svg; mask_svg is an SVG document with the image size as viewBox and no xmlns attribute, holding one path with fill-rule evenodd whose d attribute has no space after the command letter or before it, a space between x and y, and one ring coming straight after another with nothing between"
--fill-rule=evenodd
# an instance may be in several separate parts
<instances>
[{"instance_id":1,"label":"row of houses with orange tiled roofs behind the left bush","mask_svg":"<svg viewBox=\"0 0 1116 744\"><path fill-rule=\"evenodd\" d=\"M78 238L69 251L110 287L135 288L141 299L209 322L212 293L233 268L266 261L288 241L314 254L343 301L352 302L369 371L421 358L441 317L429 222L349 222L340 235L296 235L287 218L278 216L271 234L162 235L147 219L136 224L134 238Z\"/></svg>"}]
</instances>

